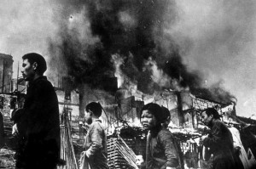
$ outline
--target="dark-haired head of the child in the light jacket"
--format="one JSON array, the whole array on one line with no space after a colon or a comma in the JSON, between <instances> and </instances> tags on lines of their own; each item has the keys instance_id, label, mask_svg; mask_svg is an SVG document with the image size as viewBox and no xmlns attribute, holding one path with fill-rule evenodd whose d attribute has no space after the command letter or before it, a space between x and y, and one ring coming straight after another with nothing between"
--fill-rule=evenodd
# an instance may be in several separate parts
<instances>
[{"instance_id":1,"label":"dark-haired head of the child in the light jacket","mask_svg":"<svg viewBox=\"0 0 256 169\"><path fill-rule=\"evenodd\" d=\"M85 121L90 124L92 118L98 119L102 115L102 105L100 103L91 102L85 107Z\"/></svg>"}]
</instances>

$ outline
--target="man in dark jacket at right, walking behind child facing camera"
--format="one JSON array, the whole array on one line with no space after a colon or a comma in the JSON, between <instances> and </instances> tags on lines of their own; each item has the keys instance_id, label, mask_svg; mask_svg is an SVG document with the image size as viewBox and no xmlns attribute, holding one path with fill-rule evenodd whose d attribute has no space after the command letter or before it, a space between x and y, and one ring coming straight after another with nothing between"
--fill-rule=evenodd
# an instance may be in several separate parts
<instances>
[{"instance_id":1,"label":"man in dark jacket at right, walking behind child facing camera","mask_svg":"<svg viewBox=\"0 0 256 169\"><path fill-rule=\"evenodd\" d=\"M207 136L202 136L202 144L210 148L213 154L213 169L236 168L234 160L234 147L232 134L228 127L220 121L218 111L208 108L202 112L202 121L210 127L211 131Z\"/></svg>"}]
</instances>

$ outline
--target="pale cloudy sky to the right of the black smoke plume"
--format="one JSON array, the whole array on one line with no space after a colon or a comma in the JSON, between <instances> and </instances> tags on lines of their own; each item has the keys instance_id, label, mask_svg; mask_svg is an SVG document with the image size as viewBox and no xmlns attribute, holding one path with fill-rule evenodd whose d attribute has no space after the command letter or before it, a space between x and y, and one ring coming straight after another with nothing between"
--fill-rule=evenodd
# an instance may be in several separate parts
<instances>
[{"instance_id":1,"label":"pale cloudy sky to the right of the black smoke plume","mask_svg":"<svg viewBox=\"0 0 256 169\"><path fill-rule=\"evenodd\" d=\"M179 20L165 32L177 42L188 69L201 70L205 87L212 87L214 97L225 91L235 95L238 115L252 115L256 3L181 0L176 4Z\"/></svg>"}]
</instances>

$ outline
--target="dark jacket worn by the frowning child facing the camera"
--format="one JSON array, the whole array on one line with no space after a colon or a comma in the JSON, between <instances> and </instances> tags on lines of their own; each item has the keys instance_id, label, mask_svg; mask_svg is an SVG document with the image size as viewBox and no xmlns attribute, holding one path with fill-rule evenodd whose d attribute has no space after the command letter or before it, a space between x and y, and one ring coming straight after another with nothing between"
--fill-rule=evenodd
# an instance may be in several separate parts
<instances>
[{"instance_id":1,"label":"dark jacket worn by the frowning child facing the camera","mask_svg":"<svg viewBox=\"0 0 256 169\"><path fill-rule=\"evenodd\" d=\"M181 149L166 128L148 132L146 168L162 169L166 166L183 168Z\"/></svg>"}]
</instances>

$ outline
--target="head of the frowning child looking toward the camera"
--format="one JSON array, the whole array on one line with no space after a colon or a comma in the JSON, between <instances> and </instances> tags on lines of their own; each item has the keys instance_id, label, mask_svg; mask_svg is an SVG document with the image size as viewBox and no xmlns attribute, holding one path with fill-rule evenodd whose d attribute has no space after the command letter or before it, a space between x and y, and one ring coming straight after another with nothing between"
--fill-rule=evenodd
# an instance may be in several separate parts
<instances>
[{"instance_id":1,"label":"head of the frowning child looking toward the camera","mask_svg":"<svg viewBox=\"0 0 256 169\"><path fill-rule=\"evenodd\" d=\"M146 104L141 110L141 123L145 129L151 130L159 127L164 121L162 109L159 104Z\"/></svg>"}]
</instances>

